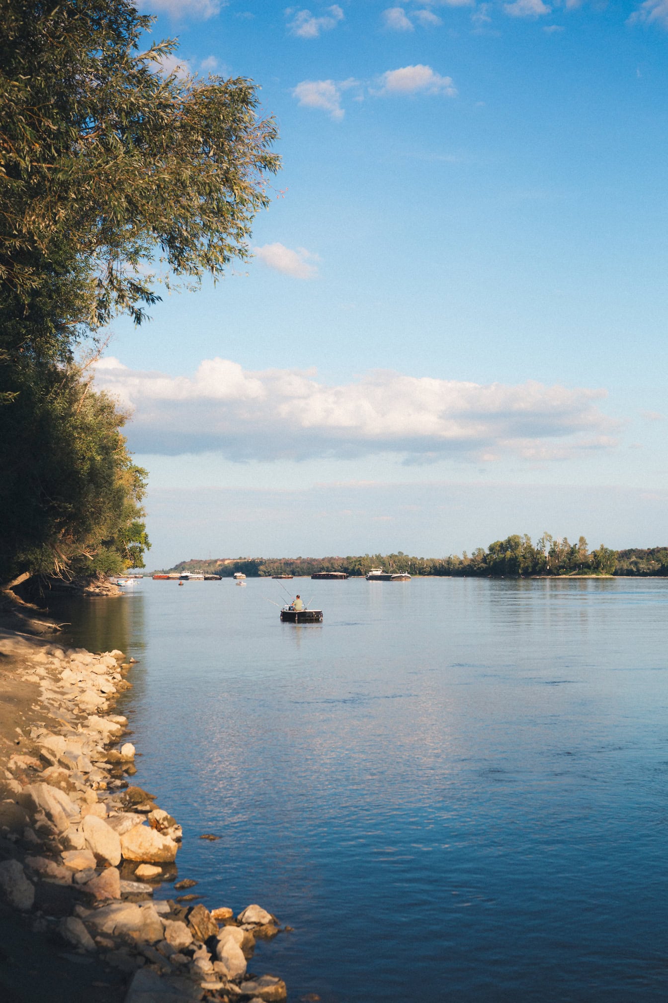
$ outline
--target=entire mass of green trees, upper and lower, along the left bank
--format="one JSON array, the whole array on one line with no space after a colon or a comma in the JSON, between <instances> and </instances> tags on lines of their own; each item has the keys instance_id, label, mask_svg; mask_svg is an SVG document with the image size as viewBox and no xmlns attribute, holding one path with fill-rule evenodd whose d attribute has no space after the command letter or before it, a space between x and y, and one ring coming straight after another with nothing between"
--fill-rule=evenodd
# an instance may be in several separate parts
<instances>
[{"instance_id":1,"label":"entire mass of green trees, upper and lower, along the left bank","mask_svg":"<svg viewBox=\"0 0 668 1003\"><path fill-rule=\"evenodd\" d=\"M129 0L6 0L0 35L0 583L143 567L146 471L92 384L100 332L249 256L276 129L244 78L141 48Z\"/></svg>"}]
</instances>

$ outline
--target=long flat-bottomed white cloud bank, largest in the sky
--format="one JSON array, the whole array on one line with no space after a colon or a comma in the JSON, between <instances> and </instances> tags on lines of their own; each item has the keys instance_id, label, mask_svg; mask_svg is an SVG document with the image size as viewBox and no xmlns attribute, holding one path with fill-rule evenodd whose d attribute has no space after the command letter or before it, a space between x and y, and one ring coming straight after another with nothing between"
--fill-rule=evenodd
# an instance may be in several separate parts
<instances>
[{"instance_id":1,"label":"long flat-bottomed white cloud bank, largest in the sky","mask_svg":"<svg viewBox=\"0 0 668 1003\"><path fill-rule=\"evenodd\" d=\"M219 450L235 460L399 453L427 462L511 454L564 459L614 444L597 406L605 391L464 382L374 371L327 385L313 371L246 371L206 359L193 376L97 364L96 384L135 408L128 426L141 452Z\"/></svg>"}]
</instances>

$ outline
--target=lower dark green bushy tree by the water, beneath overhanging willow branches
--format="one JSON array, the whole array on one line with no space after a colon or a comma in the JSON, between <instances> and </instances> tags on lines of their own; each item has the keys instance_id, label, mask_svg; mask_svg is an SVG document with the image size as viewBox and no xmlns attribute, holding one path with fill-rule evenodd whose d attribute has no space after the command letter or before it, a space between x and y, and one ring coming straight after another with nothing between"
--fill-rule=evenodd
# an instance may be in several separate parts
<instances>
[{"instance_id":1,"label":"lower dark green bushy tree by the water, beneath overhanging willow branches","mask_svg":"<svg viewBox=\"0 0 668 1003\"><path fill-rule=\"evenodd\" d=\"M19 392L2 412L3 577L143 567L146 471L120 433L127 416L75 366L19 375Z\"/></svg>"}]
</instances>

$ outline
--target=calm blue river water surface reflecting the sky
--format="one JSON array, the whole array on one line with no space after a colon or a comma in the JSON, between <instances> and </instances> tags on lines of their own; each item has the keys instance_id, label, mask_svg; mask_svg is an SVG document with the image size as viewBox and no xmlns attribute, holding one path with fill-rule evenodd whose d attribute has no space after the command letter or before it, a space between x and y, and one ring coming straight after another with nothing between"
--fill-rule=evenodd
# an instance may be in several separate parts
<instances>
[{"instance_id":1,"label":"calm blue river water surface reflecting the sky","mask_svg":"<svg viewBox=\"0 0 668 1003\"><path fill-rule=\"evenodd\" d=\"M665 999L668 584L323 581L312 627L276 586L67 617L140 659L181 875L295 928L253 971L323 1003Z\"/></svg>"}]
</instances>

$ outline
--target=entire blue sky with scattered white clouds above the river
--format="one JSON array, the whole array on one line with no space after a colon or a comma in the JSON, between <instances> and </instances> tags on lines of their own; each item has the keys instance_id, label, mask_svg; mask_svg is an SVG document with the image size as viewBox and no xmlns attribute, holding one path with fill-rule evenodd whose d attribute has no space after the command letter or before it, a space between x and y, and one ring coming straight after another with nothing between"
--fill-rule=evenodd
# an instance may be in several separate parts
<instances>
[{"instance_id":1,"label":"entire blue sky with scattered white clouds above the river","mask_svg":"<svg viewBox=\"0 0 668 1003\"><path fill-rule=\"evenodd\" d=\"M283 159L248 267L112 325L150 566L665 543L668 0L142 9Z\"/></svg>"}]
</instances>

